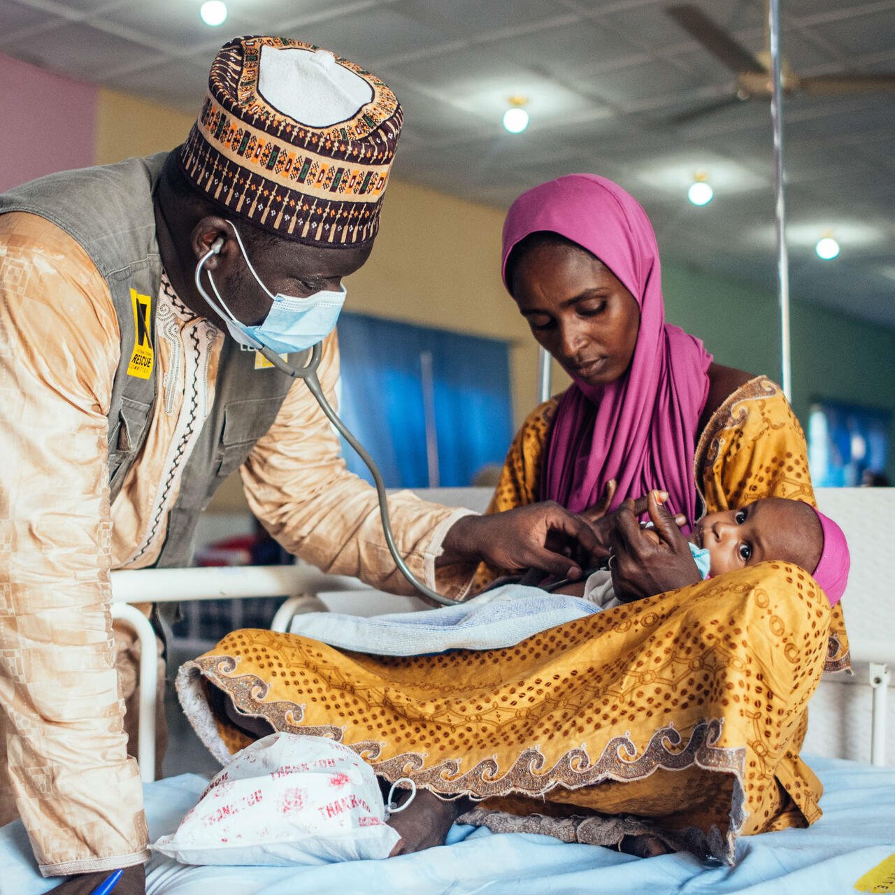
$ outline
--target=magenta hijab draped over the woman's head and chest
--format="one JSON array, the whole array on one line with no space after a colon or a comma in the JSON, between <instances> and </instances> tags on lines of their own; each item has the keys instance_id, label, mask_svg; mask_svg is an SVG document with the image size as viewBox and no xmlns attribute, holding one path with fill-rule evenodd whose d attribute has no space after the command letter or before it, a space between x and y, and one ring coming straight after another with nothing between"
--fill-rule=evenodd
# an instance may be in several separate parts
<instances>
[{"instance_id":1,"label":"magenta hijab draped over the woman's head and chest","mask_svg":"<svg viewBox=\"0 0 895 895\"><path fill-rule=\"evenodd\" d=\"M669 492L672 513L693 522L696 427L712 355L699 339L665 322L659 249L646 212L616 183L592 174L559 177L524 192L504 224L505 286L510 251L539 230L592 252L640 305L626 373L599 388L575 379L559 399L541 468L541 499L577 513L616 479L611 508L657 488Z\"/></svg>"}]
</instances>

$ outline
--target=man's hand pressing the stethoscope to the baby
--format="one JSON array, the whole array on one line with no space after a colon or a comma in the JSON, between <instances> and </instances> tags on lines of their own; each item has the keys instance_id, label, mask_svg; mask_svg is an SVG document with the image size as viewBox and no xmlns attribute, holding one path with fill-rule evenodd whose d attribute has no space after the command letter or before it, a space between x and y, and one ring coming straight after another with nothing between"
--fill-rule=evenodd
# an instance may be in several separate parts
<instances>
[{"instance_id":1,"label":"man's hand pressing the stethoscope to the baby","mask_svg":"<svg viewBox=\"0 0 895 895\"><path fill-rule=\"evenodd\" d=\"M498 568L540 568L577 580L597 547L588 522L548 501L458 519L447 532L436 565L484 560Z\"/></svg>"}]
</instances>

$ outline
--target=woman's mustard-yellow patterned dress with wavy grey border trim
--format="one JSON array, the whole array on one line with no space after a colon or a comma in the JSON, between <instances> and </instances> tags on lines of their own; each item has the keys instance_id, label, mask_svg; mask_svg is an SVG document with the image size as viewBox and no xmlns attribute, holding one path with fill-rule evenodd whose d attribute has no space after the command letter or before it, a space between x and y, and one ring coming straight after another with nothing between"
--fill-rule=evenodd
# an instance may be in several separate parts
<instances>
[{"instance_id":1,"label":"woman's mustard-yellow patterned dress with wavy grey border trim","mask_svg":"<svg viewBox=\"0 0 895 895\"><path fill-rule=\"evenodd\" d=\"M813 499L802 432L767 379L720 408L696 462L710 508ZM634 814L730 861L738 835L821 815L798 749L824 664L848 649L843 632L830 655L837 618L811 575L768 562L502 650L381 658L237 631L184 667L182 700L191 691L207 715L196 694L211 683L277 730L351 746L388 780L510 814ZM248 743L220 717L209 737Z\"/></svg>"}]
</instances>

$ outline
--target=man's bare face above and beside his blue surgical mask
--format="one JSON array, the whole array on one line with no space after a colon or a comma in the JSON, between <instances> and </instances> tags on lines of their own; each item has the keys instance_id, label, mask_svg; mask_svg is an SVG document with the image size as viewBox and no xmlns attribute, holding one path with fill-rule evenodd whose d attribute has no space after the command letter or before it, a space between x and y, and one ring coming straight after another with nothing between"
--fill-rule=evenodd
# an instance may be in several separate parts
<instances>
[{"instance_id":1,"label":"man's bare face above and beside his blue surgical mask","mask_svg":"<svg viewBox=\"0 0 895 895\"><path fill-rule=\"evenodd\" d=\"M237 225L238 226L238 225ZM338 291L342 277L353 274L370 257L365 248L324 249L286 239L247 240L243 243L260 282L272 294L308 298L322 290ZM238 320L257 326L267 317L272 301L251 275L243 251L232 233L217 255L212 271L217 291Z\"/></svg>"}]
</instances>

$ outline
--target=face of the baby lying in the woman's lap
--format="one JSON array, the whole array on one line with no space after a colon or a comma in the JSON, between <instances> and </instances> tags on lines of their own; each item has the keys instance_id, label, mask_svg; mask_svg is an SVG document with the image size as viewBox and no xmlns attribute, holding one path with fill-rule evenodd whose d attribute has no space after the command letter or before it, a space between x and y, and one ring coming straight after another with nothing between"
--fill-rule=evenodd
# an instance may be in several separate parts
<instances>
[{"instance_id":1,"label":"face of the baby lying in the woman's lap","mask_svg":"<svg viewBox=\"0 0 895 895\"><path fill-rule=\"evenodd\" d=\"M820 530L820 526L817 526ZM709 551L711 574L775 559L814 571L823 542L805 524L805 507L796 500L765 498L740 509L703 516L689 541Z\"/></svg>"}]
</instances>

